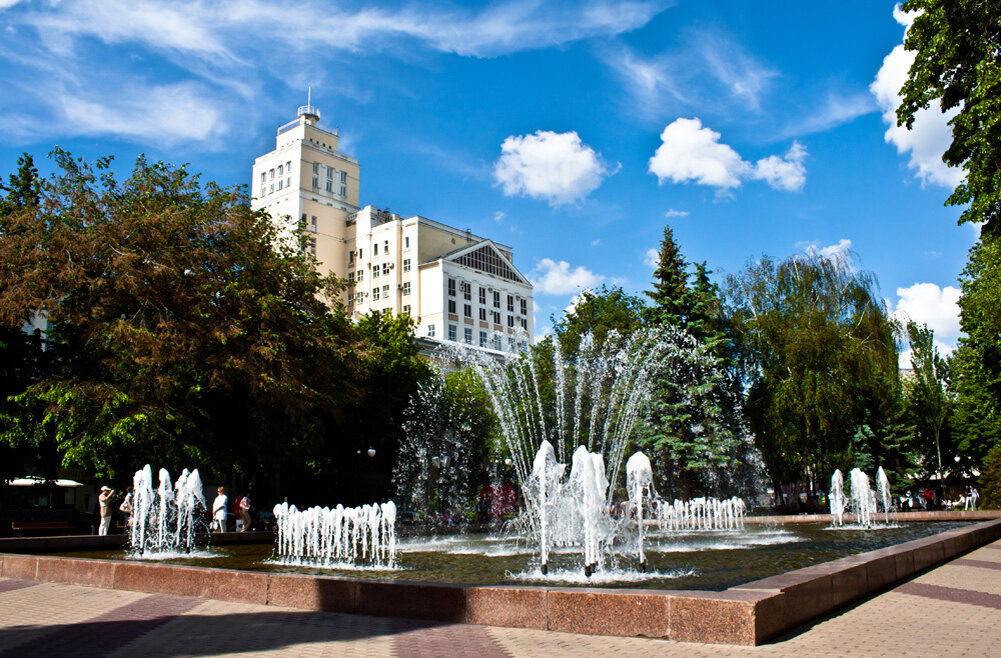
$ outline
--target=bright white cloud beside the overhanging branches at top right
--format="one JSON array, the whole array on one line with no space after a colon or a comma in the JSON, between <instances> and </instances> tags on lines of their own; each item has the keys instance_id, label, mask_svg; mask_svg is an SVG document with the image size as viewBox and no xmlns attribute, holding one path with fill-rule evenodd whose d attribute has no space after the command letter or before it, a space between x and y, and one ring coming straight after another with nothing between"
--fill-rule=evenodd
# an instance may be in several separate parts
<instances>
[{"instance_id":1,"label":"bright white cloud beside the overhanging branches at top right","mask_svg":"<svg viewBox=\"0 0 1001 658\"><path fill-rule=\"evenodd\" d=\"M913 21L913 16L904 14L899 5L894 8L893 17L905 28L910 27ZM954 108L943 114L938 103L933 102L927 109L915 113L910 130L897 125L900 88L907 80L914 56L913 51L905 50L902 43L898 44L883 59L876 79L869 85L869 90L883 112L883 121L888 126L884 138L887 143L897 147L898 153L910 153L908 165L916 170L916 175L923 183L955 187L962 182L964 173L962 169L946 166L942 161L942 154L952 143L952 128L948 121L956 115L958 109Z\"/></svg>"}]
</instances>

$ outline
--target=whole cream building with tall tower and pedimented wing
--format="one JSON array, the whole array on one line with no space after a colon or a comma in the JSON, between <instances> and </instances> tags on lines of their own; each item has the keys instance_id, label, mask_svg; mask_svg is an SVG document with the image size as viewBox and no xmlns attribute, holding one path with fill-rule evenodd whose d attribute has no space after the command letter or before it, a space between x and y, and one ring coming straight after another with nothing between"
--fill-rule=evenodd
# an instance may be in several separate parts
<instances>
[{"instance_id":1,"label":"whole cream building with tall tower and pedimented wing","mask_svg":"<svg viewBox=\"0 0 1001 658\"><path fill-rule=\"evenodd\" d=\"M252 206L286 234L306 232L320 271L347 280L341 300L350 315L407 313L424 343L526 349L535 332L532 283L511 247L426 217L359 207L358 161L318 122L319 111L305 105L278 128L274 150L254 161Z\"/></svg>"}]
</instances>

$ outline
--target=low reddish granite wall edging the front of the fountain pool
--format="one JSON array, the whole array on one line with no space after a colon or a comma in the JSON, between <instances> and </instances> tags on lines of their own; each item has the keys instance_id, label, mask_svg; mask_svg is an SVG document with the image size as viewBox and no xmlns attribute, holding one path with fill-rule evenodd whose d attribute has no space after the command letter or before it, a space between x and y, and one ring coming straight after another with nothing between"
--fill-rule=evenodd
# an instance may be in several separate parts
<instances>
[{"instance_id":1,"label":"low reddish granite wall edging the front of the fountain pool","mask_svg":"<svg viewBox=\"0 0 1001 658\"><path fill-rule=\"evenodd\" d=\"M0 553L0 576L348 614L755 645L998 538L1001 519L723 592L442 585L7 553Z\"/></svg>"}]
</instances>

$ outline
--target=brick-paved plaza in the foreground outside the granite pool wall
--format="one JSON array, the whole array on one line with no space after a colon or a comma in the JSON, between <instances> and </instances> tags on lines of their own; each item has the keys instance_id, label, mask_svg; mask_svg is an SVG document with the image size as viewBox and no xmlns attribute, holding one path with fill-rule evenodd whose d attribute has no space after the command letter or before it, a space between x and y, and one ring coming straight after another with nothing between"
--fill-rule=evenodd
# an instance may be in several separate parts
<instances>
[{"instance_id":1,"label":"brick-paved plaza in the foreground outside the granite pool wall","mask_svg":"<svg viewBox=\"0 0 1001 658\"><path fill-rule=\"evenodd\" d=\"M305 612L0 579L0 657L1001 655L1001 541L759 647Z\"/></svg>"}]
</instances>

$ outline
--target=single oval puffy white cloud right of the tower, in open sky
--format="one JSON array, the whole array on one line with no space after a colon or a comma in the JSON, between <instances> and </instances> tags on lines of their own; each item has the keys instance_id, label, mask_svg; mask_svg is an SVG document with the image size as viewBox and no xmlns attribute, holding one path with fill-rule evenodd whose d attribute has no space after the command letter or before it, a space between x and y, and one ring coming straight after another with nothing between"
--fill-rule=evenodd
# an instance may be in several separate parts
<instances>
[{"instance_id":1,"label":"single oval puffy white cloud right of the tower, in open sky","mask_svg":"<svg viewBox=\"0 0 1001 658\"><path fill-rule=\"evenodd\" d=\"M576 132L549 130L508 137L493 166L493 179L506 195L531 196L551 205L584 199L614 173Z\"/></svg>"}]
</instances>

